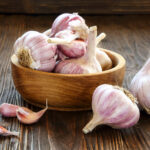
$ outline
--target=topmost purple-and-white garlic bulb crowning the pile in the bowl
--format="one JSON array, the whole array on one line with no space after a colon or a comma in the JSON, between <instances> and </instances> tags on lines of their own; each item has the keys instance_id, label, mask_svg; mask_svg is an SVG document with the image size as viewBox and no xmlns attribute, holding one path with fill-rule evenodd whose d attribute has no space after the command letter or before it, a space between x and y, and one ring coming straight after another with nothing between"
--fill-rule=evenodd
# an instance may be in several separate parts
<instances>
[{"instance_id":1,"label":"topmost purple-and-white garlic bulb crowning the pile in the bowl","mask_svg":"<svg viewBox=\"0 0 150 150\"><path fill-rule=\"evenodd\" d=\"M88 34L88 26L85 20L77 13L64 13L59 15L52 24L50 37L54 37L62 30L73 31L75 36L86 40Z\"/></svg>"}]
</instances>

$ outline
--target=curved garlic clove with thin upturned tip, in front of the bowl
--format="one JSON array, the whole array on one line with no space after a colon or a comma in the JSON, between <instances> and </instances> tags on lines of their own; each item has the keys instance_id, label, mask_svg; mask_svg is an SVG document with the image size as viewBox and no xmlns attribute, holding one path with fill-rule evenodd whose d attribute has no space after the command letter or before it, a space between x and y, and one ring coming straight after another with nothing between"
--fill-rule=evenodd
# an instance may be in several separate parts
<instances>
[{"instance_id":1,"label":"curved garlic clove with thin upturned tip, in front of the bowl","mask_svg":"<svg viewBox=\"0 0 150 150\"><path fill-rule=\"evenodd\" d=\"M21 123L24 124L33 124L37 122L46 112L48 109L48 106L39 112L33 112L32 110L26 108L26 107L19 107L16 111L17 118Z\"/></svg>"}]
</instances>

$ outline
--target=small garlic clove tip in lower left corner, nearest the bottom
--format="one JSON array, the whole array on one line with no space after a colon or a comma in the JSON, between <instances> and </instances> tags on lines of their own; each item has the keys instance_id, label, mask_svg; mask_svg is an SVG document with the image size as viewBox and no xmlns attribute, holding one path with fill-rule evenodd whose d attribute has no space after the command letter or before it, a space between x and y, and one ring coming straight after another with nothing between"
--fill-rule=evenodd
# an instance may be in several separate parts
<instances>
[{"instance_id":1,"label":"small garlic clove tip in lower left corner, nearest the bottom","mask_svg":"<svg viewBox=\"0 0 150 150\"><path fill-rule=\"evenodd\" d=\"M19 132L16 131L8 131L4 127L0 126L0 135L2 136L19 136Z\"/></svg>"}]
</instances>

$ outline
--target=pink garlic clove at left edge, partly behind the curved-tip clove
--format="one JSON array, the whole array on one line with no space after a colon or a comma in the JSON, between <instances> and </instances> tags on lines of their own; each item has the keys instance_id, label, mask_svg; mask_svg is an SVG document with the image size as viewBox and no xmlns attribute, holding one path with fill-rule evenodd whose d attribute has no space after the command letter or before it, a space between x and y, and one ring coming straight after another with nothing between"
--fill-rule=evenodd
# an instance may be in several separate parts
<instances>
[{"instance_id":1,"label":"pink garlic clove at left edge, partly behind the curved-tip clove","mask_svg":"<svg viewBox=\"0 0 150 150\"><path fill-rule=\"evenodd\" d=\"M0 105L0 114L3 117L16 117L16 110L19 108L17 105L3 103Z\"/></svg>"}]
</instances>

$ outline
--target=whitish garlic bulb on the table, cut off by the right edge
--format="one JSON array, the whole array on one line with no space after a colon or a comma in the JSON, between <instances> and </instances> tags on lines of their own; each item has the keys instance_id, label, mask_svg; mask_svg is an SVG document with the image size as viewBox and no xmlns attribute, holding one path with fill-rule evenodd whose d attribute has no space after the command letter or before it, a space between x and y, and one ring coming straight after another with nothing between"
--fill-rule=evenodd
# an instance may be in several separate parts
<instances>
[{"instance_id":1,"label":"whitish garlic bulb on the table, cut off by the right edge","mask_svg":"<svg viewBox=\"0 0 150 150\"><path fill-rule=\"evenodd\" d=\"M142 108L150 114L150 58L131 81L130 91Z\"/></svg>"}]
</instances>

